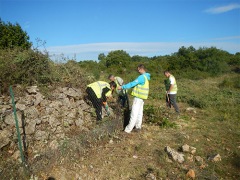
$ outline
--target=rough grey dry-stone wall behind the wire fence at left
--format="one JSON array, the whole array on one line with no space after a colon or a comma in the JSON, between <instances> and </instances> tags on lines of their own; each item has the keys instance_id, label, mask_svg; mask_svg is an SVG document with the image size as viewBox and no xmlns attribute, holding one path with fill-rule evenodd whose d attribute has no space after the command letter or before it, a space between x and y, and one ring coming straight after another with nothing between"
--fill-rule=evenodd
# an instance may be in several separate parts
<instances>
[{"instance_id":1,"label":"rough grey dry-stone wall behind the wire fence at left","mask_svg":"<svg viewBox=\"0 0 240 180\"><path fill-rule=\"evenodd\" d=\"M54 149L73 129L87 130L95 122L94 111L80 89L59 87L50 94L51 98L46 98L37 86L31 86L23 97L15 97L21 137L30 152ZM14 155L17 142L11 97L0 96L0 150L8 149Z\"/></svg>"}]
</instances>

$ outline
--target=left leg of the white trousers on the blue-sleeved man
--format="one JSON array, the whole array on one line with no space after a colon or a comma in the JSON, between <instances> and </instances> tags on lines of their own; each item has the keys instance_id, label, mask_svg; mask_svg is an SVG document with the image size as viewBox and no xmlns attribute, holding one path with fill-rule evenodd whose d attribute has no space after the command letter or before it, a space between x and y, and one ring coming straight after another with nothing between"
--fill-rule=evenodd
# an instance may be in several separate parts
<instances>
[{"instance_id":1,"label":"left leg of the white trousers on the blue-sleeved man","mask_svg":"<svg viewBox=\"0 0 240 180\"><path fill-rule=\"evenodd\" d=\"M138 101L138 100L139 100L138 98L133 99L130 121L124 130L127 133L130 133L132 131L132 129L134 128L134 126L136 125L136 121L137 121L137 117L138 117L138 113L139 113L139 109L140 109L140 105L141 105L140 101Z\"/></svg>"}]
</instances>

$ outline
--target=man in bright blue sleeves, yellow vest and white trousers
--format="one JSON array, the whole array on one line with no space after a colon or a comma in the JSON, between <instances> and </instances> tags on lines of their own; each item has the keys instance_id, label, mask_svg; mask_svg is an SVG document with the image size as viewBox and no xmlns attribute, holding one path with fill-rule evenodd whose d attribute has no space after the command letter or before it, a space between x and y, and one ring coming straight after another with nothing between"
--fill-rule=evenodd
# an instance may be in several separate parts
<instances>
[{"instance_id":1,"label":"man in bright blue sleeves, yellow vest and white trousers","mask_svg":"<svg viewBox=\"0 0 240 180\"><path fill-rule=\"evenodd\" d=\"M130 133L134 127L136 128L136 131L141 130L144 100L148 98L149 94L150 74L146 72L143 64L138 65L137 71L140 73L140 76L138 76L137 79L118 87L119 90L129 89L133 87L131 95L134 97L134 99L130 115L130 121L124 129L124 132L126 133Z\"/></svg>"}]
</instances>

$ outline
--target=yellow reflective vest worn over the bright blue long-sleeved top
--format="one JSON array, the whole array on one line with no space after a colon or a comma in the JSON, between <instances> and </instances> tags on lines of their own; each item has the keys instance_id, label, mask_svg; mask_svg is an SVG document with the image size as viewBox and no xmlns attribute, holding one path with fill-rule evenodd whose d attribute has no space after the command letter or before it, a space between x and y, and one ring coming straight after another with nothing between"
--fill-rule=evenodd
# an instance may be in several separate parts
<instances>
[{"instance_id":1,"label":"yellow reflective vest worn over the bright blue long-sleeved top","mask_svg":"<svg viewBox=\"0 0 240 180\"><path fill-rule=\"evenodd\" d=\"M149 81L145 75L143 76L145 79L145 83L143 85L136 85L133 88L132 96L138 97L140 99L147 99L149 94Z\"/></svg>"}]
</instances>

